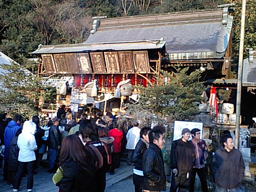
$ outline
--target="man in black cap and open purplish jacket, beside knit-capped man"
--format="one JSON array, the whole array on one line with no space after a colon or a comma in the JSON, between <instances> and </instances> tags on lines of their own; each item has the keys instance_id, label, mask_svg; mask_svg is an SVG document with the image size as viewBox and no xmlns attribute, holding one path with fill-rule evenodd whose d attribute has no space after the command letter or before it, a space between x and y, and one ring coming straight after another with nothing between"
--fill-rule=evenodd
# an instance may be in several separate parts
<instances>
[{"instance_id":1,"label":"man in black cap and open purplish jacket, beside knit-capped man","mask_svg":"<svg viewBox=\"0 0 256 192\"><path fill-rule=\"evenodd\" d=\"M191 142L195 148L196 160L195 164L191 171L191 180L190 180L190 192L194 192L196 173L201 182L202 192L208 192L207 181L206 181L206 170L204 166L204 161L207 158L207 146L206 142L200 139L201 130L194 128L191 130L192 139Z\"/></svg>"}]
</instances>

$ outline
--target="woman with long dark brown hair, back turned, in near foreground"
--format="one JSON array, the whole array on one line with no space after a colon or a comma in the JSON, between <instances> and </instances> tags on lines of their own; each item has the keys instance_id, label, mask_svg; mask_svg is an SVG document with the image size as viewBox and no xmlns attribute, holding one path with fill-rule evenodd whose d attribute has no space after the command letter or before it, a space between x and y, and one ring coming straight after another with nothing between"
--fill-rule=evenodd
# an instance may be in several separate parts
<instances>
[{"instance_id":1,"label":"woman with long dark brown hair, back turned, in near foreground","mask_svg":"<svg viewBox=\"0 0 256 192\"><path fill-rule=\"evenodd\" d=\"M60 192L96 192L96 168L78 135L66 136L60 150Z\"/></svg>"}]
</instances>

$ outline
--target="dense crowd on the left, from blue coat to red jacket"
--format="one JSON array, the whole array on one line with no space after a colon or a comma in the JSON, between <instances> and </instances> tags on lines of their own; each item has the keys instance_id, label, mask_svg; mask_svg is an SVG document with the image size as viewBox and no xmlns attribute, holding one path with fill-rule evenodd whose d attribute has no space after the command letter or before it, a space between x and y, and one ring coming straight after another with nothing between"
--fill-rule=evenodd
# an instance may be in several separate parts
<instances>
[{"instance_id":1,"label":"dense crowd on the left, from blue coat to red jacket","mask_svg":"<svg viewBox=\"0 0 256 192\"><path fill-rule=\"evenodd\" d=\"M57 183L60 191L103 192L106 172L115 174L120 164L123 131L107 112L97 108L84 110L77 122L71 110L61 106L57 117L40 124L38 116L22 120L16 115L0 115L0 141L4 146L1 159L4 180L19 190L22 177L27 175L27 190L32 191L33 175L47 150L48 172L62 170ZM89 113L90 112L90 113ZM90 182L84 182L84 179Z\"/></svg>"}]
</instances>

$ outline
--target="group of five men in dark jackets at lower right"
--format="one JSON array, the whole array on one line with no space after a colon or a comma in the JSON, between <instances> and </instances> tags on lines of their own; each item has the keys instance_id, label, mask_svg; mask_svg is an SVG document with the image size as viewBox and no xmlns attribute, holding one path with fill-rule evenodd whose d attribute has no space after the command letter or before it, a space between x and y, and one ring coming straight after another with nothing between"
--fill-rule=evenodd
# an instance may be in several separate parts
<instances>
[{"instance_id":1,"label":"group of five men in dark jackets at lower right","mask_svg":"<svg viewBox=\"0 0 256 192\"><path fill-rule=\"evenodd\" d=\"M170 154L170 192L194 192L196 174L201 182L202 192L208 192L205 163L206 142L200 139L201 130L182 130L182 137L173 141ZM192 139L190 140L190 136ZM135 192L166 191L166 175L162 149L164 148L164 128L142 128L140 140L136 144L132 161ZM222 135L220 149L214 155L212 167L216 192L239 192L244 176L242 153L234 148L232 136Z\"/></svg>"}]
</instances>

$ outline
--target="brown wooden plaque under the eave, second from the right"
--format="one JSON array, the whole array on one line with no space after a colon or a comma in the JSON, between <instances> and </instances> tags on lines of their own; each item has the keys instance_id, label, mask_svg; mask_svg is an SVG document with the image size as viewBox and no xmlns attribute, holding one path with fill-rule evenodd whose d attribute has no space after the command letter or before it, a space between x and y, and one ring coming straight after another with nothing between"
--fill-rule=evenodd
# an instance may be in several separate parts
<instances>
[{"instance_id":1,"label":"brown wooden plaque under the eave, second from the right","mask_svg":"<svg viewBox=\"0 0 256 192\"><path fill-rule=\"evenodd\" d=\"M119 64L122 73L134 73L134 65L131 51L119 51Z\"/></svg>"}]
</instances>

